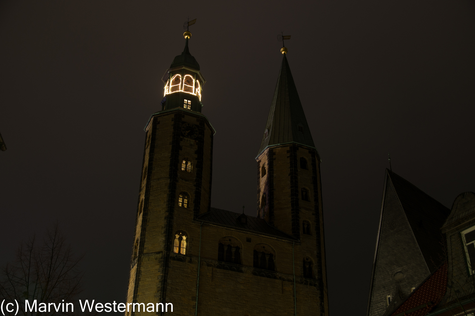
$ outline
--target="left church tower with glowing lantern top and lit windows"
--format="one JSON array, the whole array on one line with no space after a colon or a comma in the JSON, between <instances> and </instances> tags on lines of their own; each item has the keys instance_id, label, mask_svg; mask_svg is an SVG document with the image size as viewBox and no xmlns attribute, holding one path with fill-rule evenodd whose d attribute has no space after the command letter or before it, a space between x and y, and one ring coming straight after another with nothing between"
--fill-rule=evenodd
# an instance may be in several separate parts
<instances>
[{"instance_id":1,"label":"left church tower with glowing lantern top and lit windows","mask_svg":"<svg viewBox=\"0 0 475 316\"><path fill-rule=\"evenodd\" d=\"M178 248L188 243L180 228L210 208L215 131L201 114L205 80L188 48L191 33L184 37L183 52L162 77L161 111L152 114L145 126L127 302L167 301L175 235ZM178 252L185 255L186 248Z\"/></svg>"}]
</instances>

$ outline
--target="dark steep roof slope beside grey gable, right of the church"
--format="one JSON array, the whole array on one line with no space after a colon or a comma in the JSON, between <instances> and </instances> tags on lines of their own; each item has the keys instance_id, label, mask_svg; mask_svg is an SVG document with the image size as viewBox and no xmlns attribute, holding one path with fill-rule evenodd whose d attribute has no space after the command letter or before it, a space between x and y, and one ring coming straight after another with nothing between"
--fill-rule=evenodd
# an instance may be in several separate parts
<instances>
[{"instance_id":1,"label":"dark steep roof slope beside grey gable, right of the church","mask_svg":"<svg viewBox=\"0 0 475 316\"><path fill-rule=\"evenodd\" d=\"M450 210L398 174L386 169L429 270L442 262L440 228Z\"/></svg>"}]
</instances>

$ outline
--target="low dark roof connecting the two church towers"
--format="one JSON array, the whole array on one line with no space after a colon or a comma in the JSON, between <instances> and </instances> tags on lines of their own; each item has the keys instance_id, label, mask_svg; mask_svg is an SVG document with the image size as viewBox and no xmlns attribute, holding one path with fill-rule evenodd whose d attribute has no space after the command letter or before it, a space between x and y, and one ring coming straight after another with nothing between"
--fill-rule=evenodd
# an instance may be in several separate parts
<instances>
[{"instance_id":1,"label":"low dark roof connecting the two church towers","mask_svg":"<svg viewBox=\"0 0 475 316\"><path fill-rule=\"evenodd\" d=\"M273 226L270 226L264 219L247 215L247 222L243 223L240 220L237 220L237 218L241 215L242 214L240 213L235 213L212 207L209 212L201 214L197 220L216 223L235 229L250 230L266 235L273 235L280 238L297 240L293 236L290 236L285 232L278 230Z\"/></svg>"}]
</instances>

